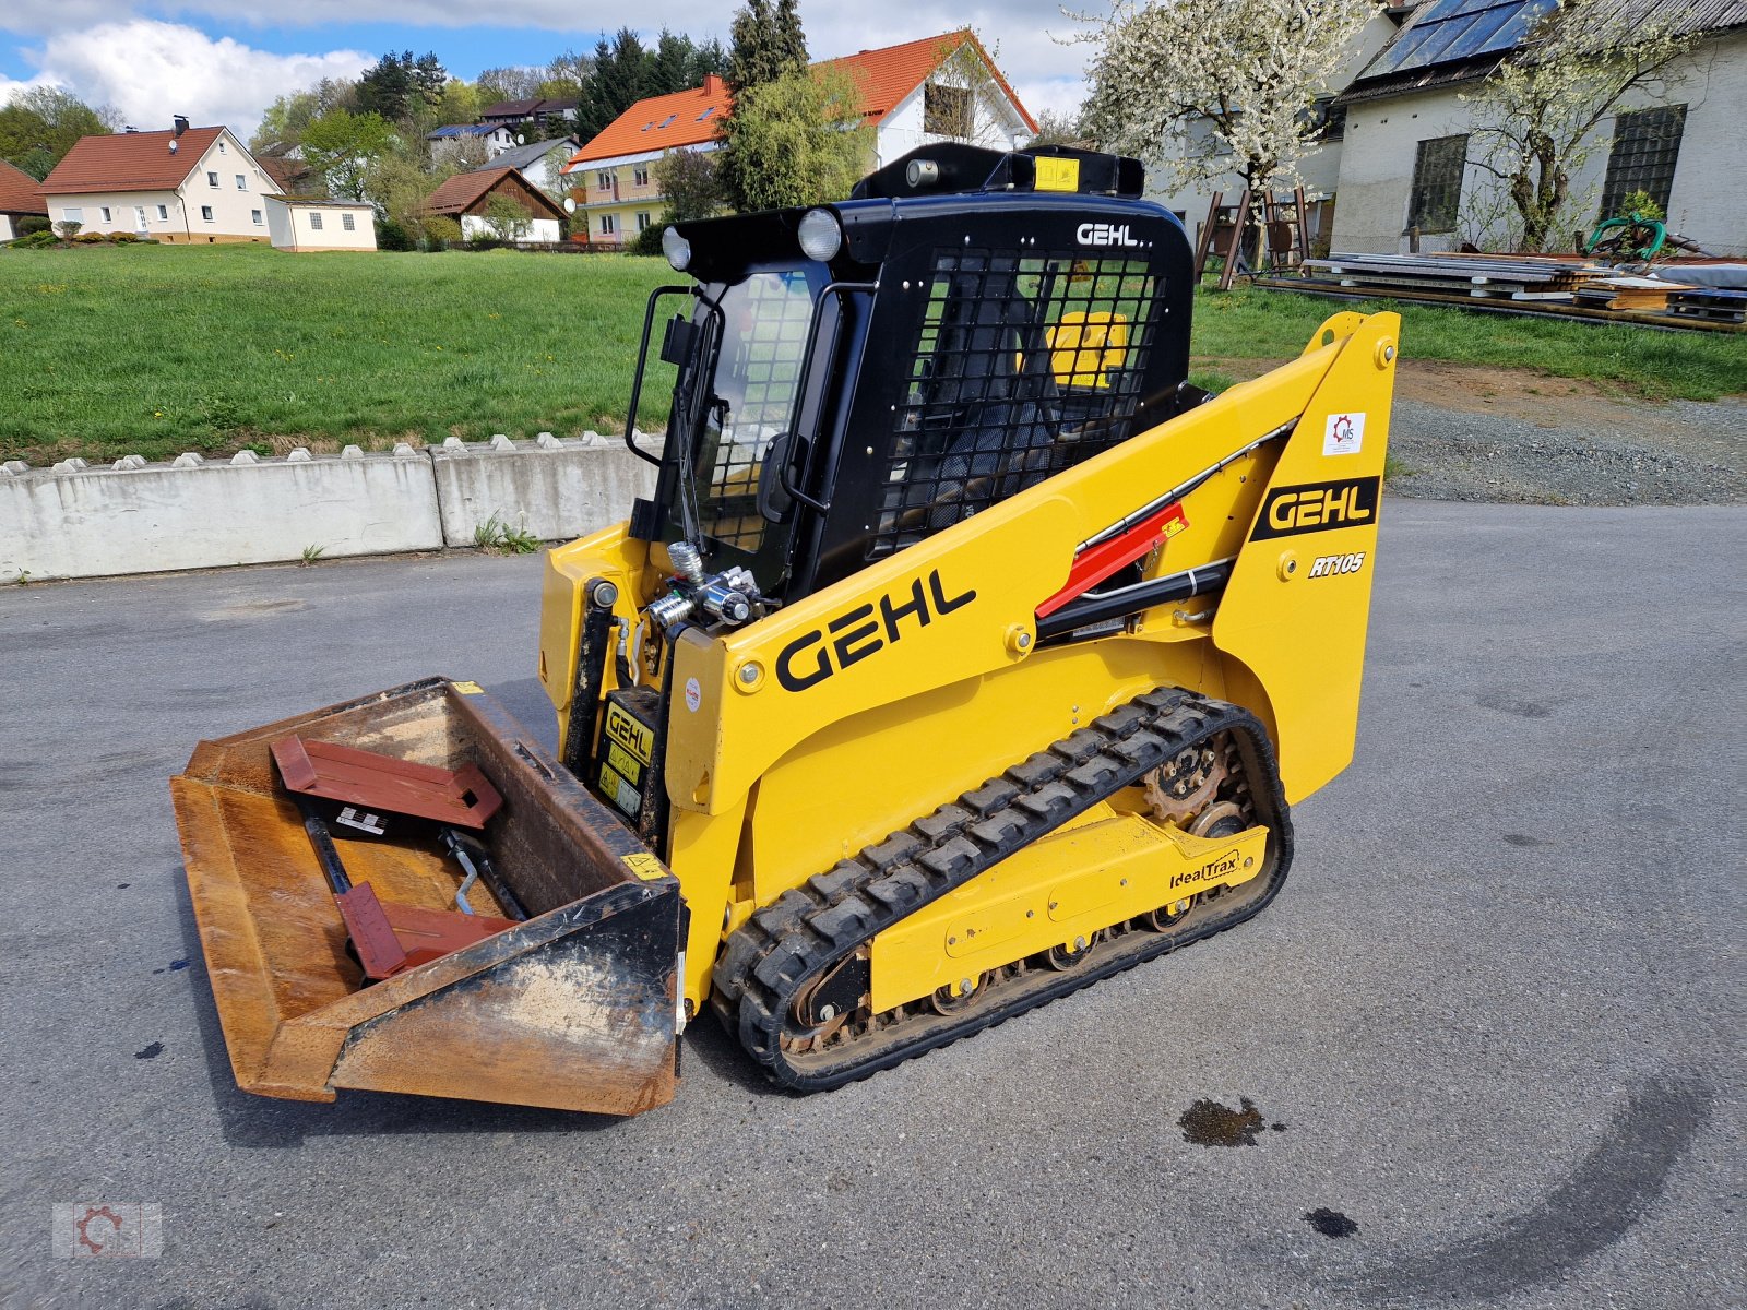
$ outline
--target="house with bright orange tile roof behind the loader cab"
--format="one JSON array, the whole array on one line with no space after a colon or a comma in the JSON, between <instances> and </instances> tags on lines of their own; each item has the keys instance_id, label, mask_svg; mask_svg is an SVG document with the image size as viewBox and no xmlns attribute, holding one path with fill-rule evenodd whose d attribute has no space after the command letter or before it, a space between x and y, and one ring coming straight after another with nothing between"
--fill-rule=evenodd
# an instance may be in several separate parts
<instances>
[{"instance_id":1,"label":"house with bright orange tile roof behind the loader cab","mask_svg":"<svg viewBox=\"0 0 1747 1310\"><path fill-rule=\"evenodd\" d=\"M874 128L868 171L933 141L1012 148L1038 131L970 30L812 66L842 73L860 93L861 117ZM613 119L564 164L577 203L571 239L620 246L660 222L655 162L669 150L716 150L732 108L727 84L711 75L701 87L639 100Z\"/></svg>"}]
</instances>

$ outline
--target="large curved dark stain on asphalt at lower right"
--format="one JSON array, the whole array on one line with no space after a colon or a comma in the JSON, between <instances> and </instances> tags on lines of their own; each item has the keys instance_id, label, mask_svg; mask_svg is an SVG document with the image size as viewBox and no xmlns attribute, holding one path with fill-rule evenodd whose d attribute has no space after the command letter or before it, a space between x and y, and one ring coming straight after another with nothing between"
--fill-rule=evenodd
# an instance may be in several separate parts
<instances>
[{"instance_id":1,"label":"large curved dark stain on asphalt at lower right","mask_svg":"<svg viewBox=\"0 0 1747 1310\"><path fill-rule=\"evenodd\" d=\"M1675 1162L1710 1120L1698 1078L1633 1090L1571 1177L1534 1207L1447 1245L1401 1256L1340 1284L1377 1300L1490 1300L1546 1282L1621 1237L1661 1195Z\"/></svg>"}]
</instances>

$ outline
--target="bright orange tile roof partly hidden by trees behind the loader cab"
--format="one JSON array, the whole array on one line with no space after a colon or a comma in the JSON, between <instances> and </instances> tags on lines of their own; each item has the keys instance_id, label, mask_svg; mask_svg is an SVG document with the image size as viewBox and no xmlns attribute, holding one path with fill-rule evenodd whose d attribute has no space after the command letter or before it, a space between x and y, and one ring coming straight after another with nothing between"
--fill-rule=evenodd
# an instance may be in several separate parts
<instances>
[{"instance_id":1,"label":"bright orange tile roof partly hidden by trees behind the loader cab","mask_svg":"<svg viewBox=\"0 0 1747 1310\"><path fill-rule=\"evenodd\" d=\"M994 80L1019 108L1019 115L1032 131L1036 121L1019 103L1013 87L1001 77L994 59L984 51L970 28L947 31L940 37L905 42L903 45L886 45L877 51L846 54L840 59L825 59L814 68L830 68L847 73L861 93L861 115L879 126L880 121L898 108L922 80L935 72L949 54L964 42L971 42L994 72ZM706 114L706 108L711 112ZM583 145L564 171L571 173L597 159L618 159L620 155L638 155L645 152L673 150L685 145L702 145L716 136L716 124L734 108L727 86L720 77L711 75L704 86L692 91L676 91L671 96L650 96L639 100L608 124L606 131Z\"/></svg>"}]
</instances>

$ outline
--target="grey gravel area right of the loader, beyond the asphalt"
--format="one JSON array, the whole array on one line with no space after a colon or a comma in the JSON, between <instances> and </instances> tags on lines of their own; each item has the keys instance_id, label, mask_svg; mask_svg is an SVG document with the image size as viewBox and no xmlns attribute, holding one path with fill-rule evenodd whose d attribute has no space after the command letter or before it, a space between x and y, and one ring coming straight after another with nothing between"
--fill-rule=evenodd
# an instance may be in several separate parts
<instances>
[{"instance_id":1,"label":"grey gravel area right of the loader, beyond the asphalt","mask_svg":"<svg viewBox=\"0 0 1747 1310\"><path fill-rule=\"evenodd\" d=\"M1464 398L1467 400L1467 398ZM1747 402L1586 402L1544 414L1398 398L1389 489L1527 505L1744 505Z\"/></svg>"}]
</instances>

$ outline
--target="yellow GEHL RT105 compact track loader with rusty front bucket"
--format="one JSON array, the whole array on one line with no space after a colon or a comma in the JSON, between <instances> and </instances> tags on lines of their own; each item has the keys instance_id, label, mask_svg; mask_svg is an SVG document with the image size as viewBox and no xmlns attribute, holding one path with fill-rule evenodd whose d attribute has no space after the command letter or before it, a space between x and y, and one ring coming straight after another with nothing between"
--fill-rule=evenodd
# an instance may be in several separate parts
<instances>
[{"instance_id":1,"label":"yellow GEHL RT105 compact track loader with rusty front bucket","mask_svg":"<svg viewBox=\"0 0 1747 1310\"><path fill-rule=\"evenodd\" d=\"M1352 756L1399 321L1190 386L1141 183L943 145L664 234L655 493L547 557L557 758L426 679L173 781L245 1088L638 1113L709 1006L825 1090L1274 900Z\"/></svg>"}]
</instances>

